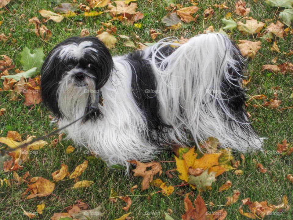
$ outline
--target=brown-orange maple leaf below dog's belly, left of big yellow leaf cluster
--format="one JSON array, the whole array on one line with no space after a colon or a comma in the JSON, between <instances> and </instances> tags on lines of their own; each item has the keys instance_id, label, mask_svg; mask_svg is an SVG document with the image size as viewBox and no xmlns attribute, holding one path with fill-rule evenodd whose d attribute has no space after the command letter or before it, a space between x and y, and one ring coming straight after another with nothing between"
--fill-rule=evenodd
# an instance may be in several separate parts
<instances>
[{"instance_id":1,"label":"brown-orange maple leaf below dog's belly, left of big yellow leaf cluster","mask_svg":"<svg viewBox=\"0 0 293 220\"><path fill-rule=\"evenodd\" d=\"M143 181L141 183L141 189L145 190L149 188L150 182L153 181L154 175L157 173L159 176L162 174L162 167L160 163L157 162L150 162L150 163L140 163L135 160L127 160L128 163L132 163L136 165L136 168L132 170L134 172L134 176L141 176L143 177ZM147 168L150 167L150 170Z\"/></svg>"}]
</instances>

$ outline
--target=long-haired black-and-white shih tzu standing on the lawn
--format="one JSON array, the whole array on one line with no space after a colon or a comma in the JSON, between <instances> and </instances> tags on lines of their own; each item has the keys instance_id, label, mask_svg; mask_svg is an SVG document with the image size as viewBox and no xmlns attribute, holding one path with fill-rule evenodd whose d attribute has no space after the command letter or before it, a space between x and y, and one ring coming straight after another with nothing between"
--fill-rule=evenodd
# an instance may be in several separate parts
<instances>
[{"instance_id":1,"label":"long-haired black-and-white shih tzu standing on the lawn","mask_svg":"<svg viewBox=\"0 0 293 220\"><path fill-rule=\"evenodd\" d=\"M243 61L230 39L214 33L117 57L96 37L72 37L44 61L42 100L63 127L103 97L66 133L108 165L128 168L126 160L150 160L162 144L208 137L248 152L262 149L262 138L244 109Z\"/></svg>"}]
</instances>

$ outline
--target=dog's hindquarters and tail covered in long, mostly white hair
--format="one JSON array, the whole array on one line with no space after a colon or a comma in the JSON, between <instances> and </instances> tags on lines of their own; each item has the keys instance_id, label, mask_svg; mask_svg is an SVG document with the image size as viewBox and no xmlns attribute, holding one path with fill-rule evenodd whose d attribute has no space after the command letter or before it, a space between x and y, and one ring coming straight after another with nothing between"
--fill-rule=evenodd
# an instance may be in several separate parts
<instances>
[{"instance_id":1,"label":"dog's hindquarters and tail covered in long, mostly white hair","mask_svg":"<svg viewBox=\"0 0 293 220\"><path fill-rule=\"evenodd\" d=\"M175 51L164 54L166 47ZM198 35L180 45L161 41L152 47L152 63L162 119L173 140L202 142L208 137L241 152L262 149L262 138L248 121L241 87L244 58L221 34Z\"/></svg>"}]
</instances>

